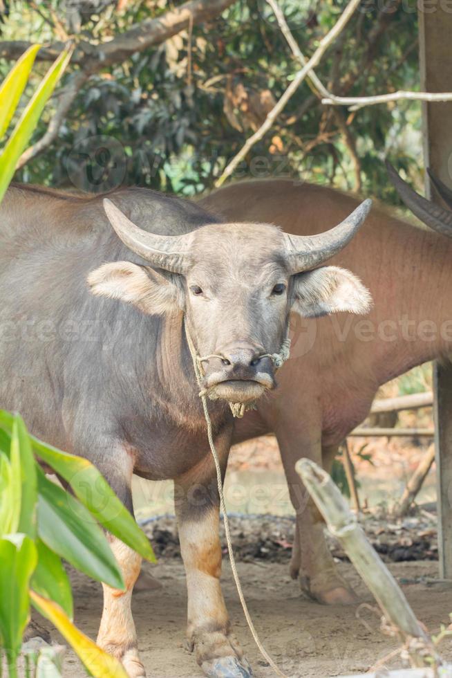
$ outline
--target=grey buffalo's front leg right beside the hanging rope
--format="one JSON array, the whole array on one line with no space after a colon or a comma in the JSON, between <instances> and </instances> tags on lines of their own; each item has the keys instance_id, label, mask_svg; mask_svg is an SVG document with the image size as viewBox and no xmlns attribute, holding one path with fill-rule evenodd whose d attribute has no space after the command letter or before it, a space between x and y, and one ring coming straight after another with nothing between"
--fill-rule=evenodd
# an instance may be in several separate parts
<instances>
[{"instance_id":1,"label":"grey buffalo's front leg right beside the hanging rope","mask_svg":"<svg viewBox=\"0 0 452 678\"><path fill-rule=\"evenodd\" d=\"M180 551L187 575L187 641L207 676L249 678L251 669L232 633L220 587L221 547L215 484L212 479L209 490L205 485L185 484L184 499L176 500Z\"/></svg>"}]
</instances>

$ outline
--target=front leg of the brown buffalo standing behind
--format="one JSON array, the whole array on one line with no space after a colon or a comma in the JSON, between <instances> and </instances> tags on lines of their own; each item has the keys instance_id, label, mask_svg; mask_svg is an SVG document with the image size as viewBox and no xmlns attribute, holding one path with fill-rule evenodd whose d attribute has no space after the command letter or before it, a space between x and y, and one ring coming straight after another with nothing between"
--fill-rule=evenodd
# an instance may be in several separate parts
<instances>
[{"instance_id":1,"label":"front leg of the brown buffalo standing behind","mask_svg":"<svg viewBox=\"0 0 452 678\"><path fill-rule=\"evenodd\" d=\"M316 432L312 433L305 430L297 432L293 425L287 423L276 432L290 499L296 511L290 575L294 579L299 578L303 593L315 601L326 605L350 605L357 601L355 593L337 571L326 543L323 518L295 471L296 461L301 457L308 457L316 464L322 464L320 427L317 435ZM328 457L332 461L334 454L330 453Z\"/></svg>"}]
</instances>

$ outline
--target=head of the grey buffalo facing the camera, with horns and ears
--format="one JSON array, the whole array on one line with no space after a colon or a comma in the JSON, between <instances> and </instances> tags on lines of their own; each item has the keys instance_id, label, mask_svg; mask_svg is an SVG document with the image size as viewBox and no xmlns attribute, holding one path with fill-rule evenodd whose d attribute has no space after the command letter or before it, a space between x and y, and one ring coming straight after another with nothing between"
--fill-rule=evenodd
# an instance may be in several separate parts
<instances>
[{"instance_id":1,"label":"head of the grey buffalo facing the camera, with horns and ears","mask_svg":"<svg viewBox=\"0 0 452 678\"><path fill-rule=\"evenodd\" d=\"M320 235L286 235L265 223L212 223L169 237L138 228L105 199L115 232L149 266L104 264L88 283L94 294L144 313L183 311L209 395L246 403L274 387L274 365L265 354L279 351L290 312L315 317L368 310L370 295L357 277L315 267L346 246L370 205L364 201Z\"/></svg>"}]
</instances>

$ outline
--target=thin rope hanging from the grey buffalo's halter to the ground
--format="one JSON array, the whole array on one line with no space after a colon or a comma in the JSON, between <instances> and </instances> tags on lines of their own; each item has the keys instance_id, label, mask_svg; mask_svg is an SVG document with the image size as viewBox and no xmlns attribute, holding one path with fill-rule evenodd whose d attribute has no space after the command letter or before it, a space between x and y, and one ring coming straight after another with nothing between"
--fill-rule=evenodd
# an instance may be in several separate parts
<instances>
[{"instance_id":1,"label":"thin rope hanging from the grey buffalo's halter to the ground","mask_svg":"<svg viewBox=\"0 0 452 678\"><path fill-rule=\"evenodd\" d=\"M289 328L287 329L286 332L286 338L285 341L289 342L289 347L290 347L290 339L288 339L288 332ZM201 385L201 379L203 378L201 369L200 369L200 357L198 354L196 354L196 349L194 346L193 341L191 340L190 333L187 328L187 323L185 323L185 335L187 336L187 343L189 345L189 350L191 354L191 360L193 360L193 367L196 375L196 381L198 382L198 386ZM283 342L284 344L284 342ZM271 356L270 356L271 357ZM287 360L287 358L285 358ZM281 363L282 364L282 363ZM275 363L276 365L276 363ZM279 366L280 367L280 366ZM234 582L236 585L237 593L238 593L238 598L240 598L240 602L242 605L243 609L243 614L245 614L245 619L247 621L247 625L249 628L249 631L251 632L254 642L257 645L257 648L259 652L261 652L263 658L267 663L272 667L276 675L278 675L280 678L288 678L288 676L283 673L278 666L276 666L276 663L274 663L272 657L270 657L270 654L268 654L267 650L265 650L263 644L261 643L261 640L259 639L259 636L256 632L256 629L254 628L254 623L253 620L251 619L251 615L249 614L248 611L248 606L245 601L245 596L243 595L243 589L241 585L240 578L238 577L238 571L237 571L237 566L236 566L236 559L234 556L234 550L232 548L232 538L231 538L231 530L229 528L229 518L227 517L226 513L226 504L225 504L225 497L223 495L223 482L221 480L221 467L220 467L220 461L218 460L218 454L216 452L216 447L215 447L215 442L214 442L214 433L212 431L212 422L210 419L210 414L209 414L209 409L207 407L207 398L205 395L205 391L201 391L199 394L201 398L201 403L203 403L203 412L205 416L205 421L207 424L207 439L209 440L209 447L210 451L212 454L212 457L214 457L214 463L215 463L215 470L216 470L216 484L218 487L218 495L220 497L220 509L221 512L223 513L223 523L225 525L225 536L226 536L226 543L227 543L227 552L229 553L229 562L231 563L231 569L232 569L232 576L234 577ZM230 405L231 403L229 403ZM239 403L240 404L240 403ZM232 414L234 414L234 410L232 410ZM243 414L242 414L243 416Z\"/></svg>"}]
</instances>

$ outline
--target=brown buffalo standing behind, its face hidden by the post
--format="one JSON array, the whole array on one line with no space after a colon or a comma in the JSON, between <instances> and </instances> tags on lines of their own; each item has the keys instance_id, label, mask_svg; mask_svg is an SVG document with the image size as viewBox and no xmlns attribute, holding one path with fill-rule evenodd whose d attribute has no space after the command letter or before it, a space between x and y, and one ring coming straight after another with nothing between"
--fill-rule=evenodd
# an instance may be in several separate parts
<instances>
[{"instance_id":1,"label":"brown buffalo standing behind, its face hidden by the post","mask_svg":"<svg viewBox=\"0 0 452 678\"><path fill-rule=\"evenodd\" d=\"M452 212L425 201L389 170L402 198L428 226L452 235ZM451 192L437 183L452 205ZM317 233L356 208L355 197L288 180L245 181L200 200L227 219L267 221L297 235ZM444 237L374 208L364 228L333 264L357 273L374 305L352 315L293 324L292 353L279 388L236 424L234 442L274 432L297 513L290 572L321 603L351 603L337 572L323 522L294 471L299 457L328 469L346 435L368 414L380 385L452 348L452 244Z\"/></svg>"}]
</instances>

